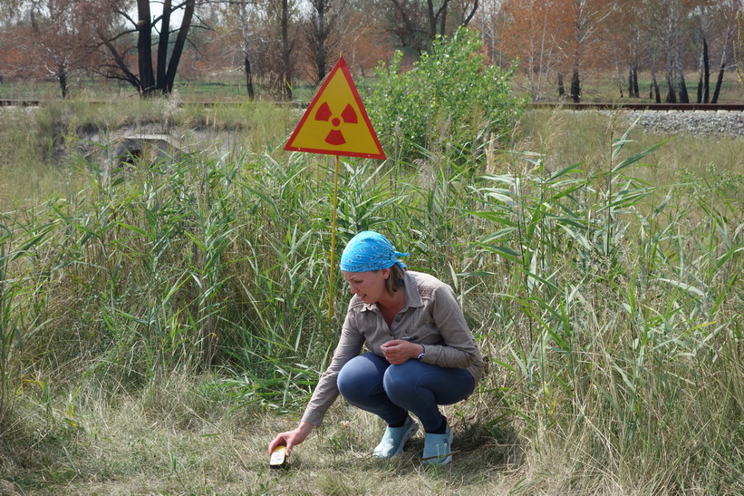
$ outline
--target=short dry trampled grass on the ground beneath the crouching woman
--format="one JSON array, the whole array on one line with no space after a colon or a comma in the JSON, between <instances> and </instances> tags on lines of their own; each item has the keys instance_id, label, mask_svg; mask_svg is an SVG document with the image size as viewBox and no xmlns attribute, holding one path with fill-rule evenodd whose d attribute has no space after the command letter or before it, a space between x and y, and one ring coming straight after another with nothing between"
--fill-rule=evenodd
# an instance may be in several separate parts
<instances>
[{"instance_id":1,"label":"short dry trampled grass on the ground beneath the crouching woman","mask_svg":"<svg viewBox=\"0 0 744 496\"><path fill-rule=\"evenodd\" d=\"M216 380L174 375L147 394L111 403L47 401L27 384L17 406L30 414L3 433L5 446L14 446L3 455L5 493L494 494L514 482L524 450L455 420L459 453L451 465L423 468L420 436L393 461L375 461L370 452L381 424L339 402L288 467L275 471L266 446L295 419L232 410L210 386ZM457 419L457 408L448 413Z\"/></svg>"}]
</instances>

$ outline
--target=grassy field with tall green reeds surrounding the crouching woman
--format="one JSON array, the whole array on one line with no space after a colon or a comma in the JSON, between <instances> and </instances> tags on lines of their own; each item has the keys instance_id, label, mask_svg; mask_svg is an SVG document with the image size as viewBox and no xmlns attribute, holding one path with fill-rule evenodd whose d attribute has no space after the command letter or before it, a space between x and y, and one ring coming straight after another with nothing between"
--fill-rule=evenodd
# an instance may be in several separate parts
<instances>
[{"instance_id":1,"label":"grassy field with tall green reeds surrounding the crouching woman","mask_svg":"<svg viewBox=\"0 0 744 496\"><path fill-rule=\"evenodd\" d=\"M381 423L338 401L272 471L348 297L328 322L333 160L282 151L298 116L262 103L3 117L0 493L744 491L740 138L533 111L467 156L343 160L337 249L379 229L451 283L488 371L448 466L420 436L373 461ZM188 152L82 152L143 122Z\"/></svg>"}]
</instances>

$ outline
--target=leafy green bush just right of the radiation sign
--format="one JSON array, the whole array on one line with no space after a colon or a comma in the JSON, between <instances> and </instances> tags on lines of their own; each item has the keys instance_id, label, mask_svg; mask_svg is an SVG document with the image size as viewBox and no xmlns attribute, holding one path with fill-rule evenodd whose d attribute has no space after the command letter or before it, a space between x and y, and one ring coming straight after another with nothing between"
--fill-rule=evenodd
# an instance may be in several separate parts
<instances>
[{"instance_id":1,"label":"leafy green bush just right of the radiation sign","mask_svg":"<svg viewBox=\"0 0 744 496\"><path fill-rule=\"evenodd\" d=\"M477 34L461 29L434 41L408 72L401 72L401 52L378 67L367 106L389 155L478 150L510 135L526 101L511 92L514 69L488 66L481 46Z\"/></svg>"}]
</instances>

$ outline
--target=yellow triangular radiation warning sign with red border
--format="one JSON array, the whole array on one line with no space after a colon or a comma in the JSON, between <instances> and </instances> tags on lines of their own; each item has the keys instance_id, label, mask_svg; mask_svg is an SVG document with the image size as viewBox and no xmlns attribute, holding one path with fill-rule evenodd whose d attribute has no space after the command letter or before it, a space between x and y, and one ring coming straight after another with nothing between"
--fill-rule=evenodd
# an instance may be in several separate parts
<instances>
[{"instance_id":1,"label":"yellow triangular radiation warning sign with red border","mask_svg":"<svg viewBox=\"0 0 744 496\"><path fill-rule=\"evenodd\" d=\"M343 57L310 102L285 150L387 158Z\"/></svg>"}]
</instances>

